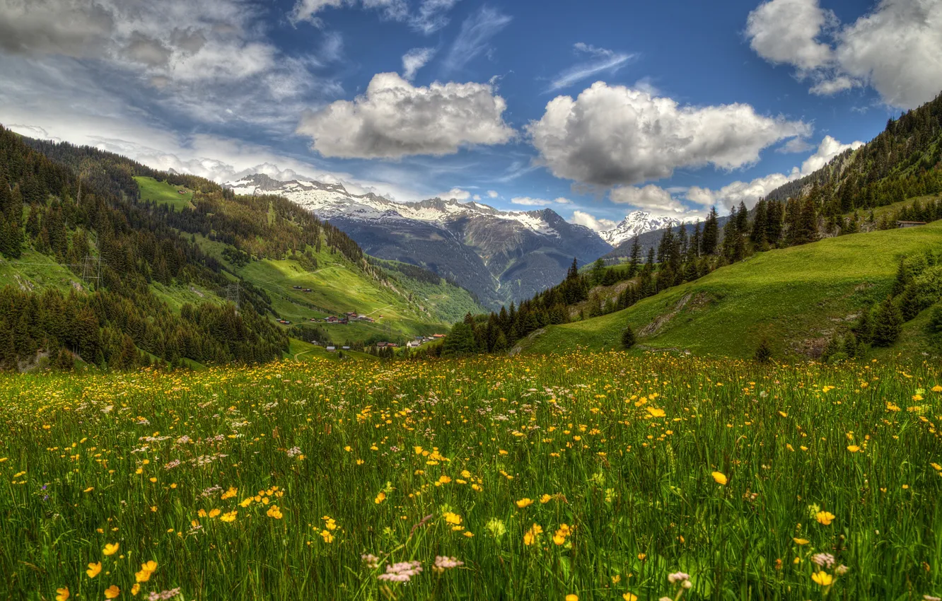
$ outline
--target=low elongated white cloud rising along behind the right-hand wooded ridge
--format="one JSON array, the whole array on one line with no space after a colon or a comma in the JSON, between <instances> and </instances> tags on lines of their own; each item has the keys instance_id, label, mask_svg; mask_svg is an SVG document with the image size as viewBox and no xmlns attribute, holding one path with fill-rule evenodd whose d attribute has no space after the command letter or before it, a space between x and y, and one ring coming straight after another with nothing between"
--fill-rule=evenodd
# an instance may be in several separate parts
<instances>
[{"instance_id":1,"label":"low elongated white cloud rising along behind the right-hand wooded ridge","mask_svg":"<svg viewBox=\"0 0 942 601\"><path fill-rule=\"evenodd\" d=\"M827 165L838 154L860 148L863 145L861 141L842 144L835 138L825 136L815 154L806 158L800 169L795 167L788 175L785 173L771 173L770 175L757 177L751 182L732 182L719 190L693 186L687 190L685 198L691 203L704 206L720 204L728 209L738 206L739 203L745 203L747 207L752 208L760 198L767 196L775 188L784 186L788 182L800 179L805 175L810 175Z\"/></svg>"}]
</instances>

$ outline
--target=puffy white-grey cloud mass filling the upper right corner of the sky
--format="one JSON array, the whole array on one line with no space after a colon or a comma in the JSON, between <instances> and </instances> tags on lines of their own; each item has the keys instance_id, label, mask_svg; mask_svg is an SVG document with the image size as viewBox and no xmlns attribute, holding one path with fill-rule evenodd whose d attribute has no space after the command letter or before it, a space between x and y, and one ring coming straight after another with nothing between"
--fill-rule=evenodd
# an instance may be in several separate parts
<instances>
[{"instance_id":1,"label":"puffy white-grey cloud mass filling the upper right corner of the sky","mask_svg":"<svg viewBox=\"0 0 942 601\"><path fill-rule=\"evenodd\" d=\"M870 86L887 105L914 108L942 86L942 0L880 0L844 26L820 0L769 0L749 14L746 36L815 94Z\"/></svg>"}]
</instances>

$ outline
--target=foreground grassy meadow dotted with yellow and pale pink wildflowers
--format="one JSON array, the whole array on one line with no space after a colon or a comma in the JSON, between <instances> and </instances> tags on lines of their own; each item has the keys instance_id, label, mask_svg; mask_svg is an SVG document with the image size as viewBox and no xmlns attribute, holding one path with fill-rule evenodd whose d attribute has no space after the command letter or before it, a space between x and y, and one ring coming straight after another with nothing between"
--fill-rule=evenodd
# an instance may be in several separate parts
<instances>
[{"instance_id":1,"label":"foreground grassy meadow dotted with yellow and pale pink wildflowers","mask_svg":"<svg viewBox=\"0 0 942 601\"><path fill-rule=\"evenodd\" d=\"M940 383L622 352L3 376L0 598L921 600Z\"/></svg>"}]
</instances>

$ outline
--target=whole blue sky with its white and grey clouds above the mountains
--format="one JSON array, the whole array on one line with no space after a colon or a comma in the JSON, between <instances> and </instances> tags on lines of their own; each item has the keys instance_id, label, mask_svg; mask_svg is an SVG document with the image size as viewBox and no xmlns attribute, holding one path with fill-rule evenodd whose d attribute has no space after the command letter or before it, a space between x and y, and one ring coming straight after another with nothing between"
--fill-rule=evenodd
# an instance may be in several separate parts
<instances>
[{"instance_id":1,"label":"whole blue sky with its white and grey clouds above the mountains","mask_svg":"<svg viewBox=\"0 0 942 601\"><path fill-rule=\"evenodd\" d=\"M942 0L0 0L0 123L398 202L721 214L942 91Z\"/></svg>"}]
</instances>

